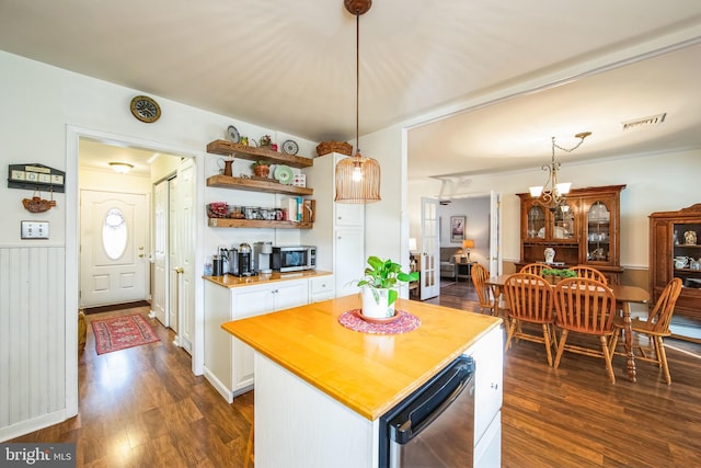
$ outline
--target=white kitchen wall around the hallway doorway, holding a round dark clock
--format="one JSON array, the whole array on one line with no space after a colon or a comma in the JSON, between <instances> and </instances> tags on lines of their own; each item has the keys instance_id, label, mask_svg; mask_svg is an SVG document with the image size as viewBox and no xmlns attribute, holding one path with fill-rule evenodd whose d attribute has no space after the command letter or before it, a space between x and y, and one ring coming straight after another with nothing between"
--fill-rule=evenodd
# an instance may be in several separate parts
<instances>
[{"instance_id":1,"label":"white kitchen wall around the hallway doorway, holding a round dark clock","mask_svg":"<svg viewBox=\"0 0 701 468\"><path fill-rule=\"evenodd\" d=\"M129 111L129 102L143 91L115 85L105 81L77 75L56 67L28 60L23 57L0 52L0 179L8 179L8 164L41 163L66 171L67 194L54 194L57 206L44 214L31 214L22 206L22 198L31 197L32 191L8 189L0 184L0 199L3 202L3 222L0 224L0 249L15 249L18 253L8 251L7 259L34 258L48 259L47 265L58 269L65 274L54 275L53 288L65 293L65 301L53 300L42 311L47 320L57 318L64 328L53 328L54 347L42 357L43 366L61 369L64 379L55 380L50 392L51 400L62 402L58 406L42 404L42 396L36 392L42 380L30 377L26 381L12 379L10 368L3 363L27 363L35 350L43 350L47 341L44 333L36 333L28 321L11 321L16 310L8 300L0 297L0 328L13 324L12 334L18 338L22 347L0 346L0 381L7 384L0 391L0 441L11 438L25 432L34 431L67 419L78 411L78 367L77 367L77 305L78 305L78 270L77 270L77 196L71 199L70 191L77 193L78 145L76 135L99 135L100 137L122 141L137 142L138 146L162 149L169 153L194 157L197 164L198 195L197 216L204 226L204 201L233 201L234 191L203 189L205 179L218 171L216 160L219 157L206 155L206 145L225 137L229 125L235 125L241 135L258 138L269 134L278 142L288 138L298 142L300 156L314 155L315 141L298 138L271 128L264 128L231 117L214 114L160 96L162 117L153 124L145 124L134 118ZM210 191L212 193L210 194ZM248 194L248 193L246 193ZM42 196L47 198L47 194ZM68 203L68 201L71 203ZM48 220L50 239L26 241L20 239L20 221L23 219ZM216 230L200 228L202 239L197 239L198 258L204 252L212 252L221 241L238 242L235 229ZM294 231L294 230L292 230ZM292 235L294 237L295 235ZM298 235L297 235L298 236ZM260 238L260 233L246 232L245 239ZM66 254L47 255L47 248L65 249ZM37 253L34 253L34 251ZM18 256L19 255L19 256ZM57 263L58 262L58 263ZM202 260L198 261L202 269ZM198 276L198 274L196 275ZM32 275L26 276L24 288L27 297L43 297L43 283L34 282ZM196 316L202 316L202 285L196 294ZM28 304L28 303L27 303ZM31 307L30 307L31 309ZM27 309L27 315L36 313ZM23 312L23 313L24 313ZM36 316L38 317L38 316ZM198 323L202 322L202 317ZM19 323L15 326L15 323ZM62 353L55 352L56 346ZM61 347L62 346L62 347ZM32 350L32 353L30 353ZM194 356L197 362L197 356ZM30 374L30 376L35 375ZM11 390L11 391L10 391ZM10 395L12 393L12 395ZM10 412L10 407L14 410ZM24 409L27 409L26 411ZM19 409L19 410L16 410ZM28 410L31 409L31 410Z\"/></svg>"}]
</instances>

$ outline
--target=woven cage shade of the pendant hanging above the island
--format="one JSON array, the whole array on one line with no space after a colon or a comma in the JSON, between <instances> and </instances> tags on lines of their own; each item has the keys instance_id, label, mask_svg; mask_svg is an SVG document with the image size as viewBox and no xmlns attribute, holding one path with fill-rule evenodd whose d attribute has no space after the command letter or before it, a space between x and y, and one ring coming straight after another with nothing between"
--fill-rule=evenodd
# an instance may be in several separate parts
<instances>
[{"instance_id":1,"label":"woven cage shade of the pendant hanging above the island","mask_svg":"<svg viewBox=\"0 0 701 468\"><path fill-rule=\"evenodd\" d=\"M336 203L375 203L380 198L380 164L360 152L336 163Z\"/></svg>"}]
</instances>

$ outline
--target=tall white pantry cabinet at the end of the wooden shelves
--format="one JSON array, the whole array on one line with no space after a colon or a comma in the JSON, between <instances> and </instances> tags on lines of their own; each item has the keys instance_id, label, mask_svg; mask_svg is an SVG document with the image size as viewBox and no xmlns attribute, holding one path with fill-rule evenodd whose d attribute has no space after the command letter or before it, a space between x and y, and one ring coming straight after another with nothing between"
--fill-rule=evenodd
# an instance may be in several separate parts
<instances>
[{"instance_id":1,"label":"tall white pantry cabinet at the end of the wooden shelves","mask_svg":"<svg viewBox=\"0 0 701 468\"><path fill-rule=\"evenodd\" d=\"M304 169L307 184L314 187L317 214L312 229L300 232L302 243L317 246L317 267L332 271L335 295L357 293L350 285L365 270L365 205L335 203L335 167L344 155L314 159Z\"/></svg>"}]
</instances>

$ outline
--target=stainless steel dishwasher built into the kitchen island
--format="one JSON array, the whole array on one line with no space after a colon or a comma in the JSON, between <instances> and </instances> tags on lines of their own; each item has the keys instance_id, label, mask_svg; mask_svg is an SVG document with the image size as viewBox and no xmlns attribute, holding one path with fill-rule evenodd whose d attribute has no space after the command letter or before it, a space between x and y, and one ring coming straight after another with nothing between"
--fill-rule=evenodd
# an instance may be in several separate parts
<instances>
[{"instance_id":1,"label":"stainless steel dishwasher built into the kitchen island","mask_svg":"<svg viewBox=\"0 0 701 468\"><path fill-rule=\"evenodd\" d=\"M380 418L380 467L471 467L474 361L460 356Z\"/></svg>"}]
</instances>

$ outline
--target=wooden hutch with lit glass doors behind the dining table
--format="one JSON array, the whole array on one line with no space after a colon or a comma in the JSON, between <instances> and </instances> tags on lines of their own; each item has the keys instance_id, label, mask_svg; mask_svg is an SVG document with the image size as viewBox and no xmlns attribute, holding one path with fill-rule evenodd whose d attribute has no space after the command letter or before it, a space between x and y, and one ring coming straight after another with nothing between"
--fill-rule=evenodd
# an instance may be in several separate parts
<instances>
[{"instance_id":1,"label":"wooden hutch with lit glass doors behind the dining table","mask_svg":"<svg viewBox=\"0 0 701 468\"><path fill-rule=\"evenodd\" d=\"M553 263L600 270L611 284L620 284L620 195L625 185L575 189L565 204L553 210L530 193L521 199L521 256L516 269L545 261L544 250L555 250Z\"/></svg>"}]
</instances>

